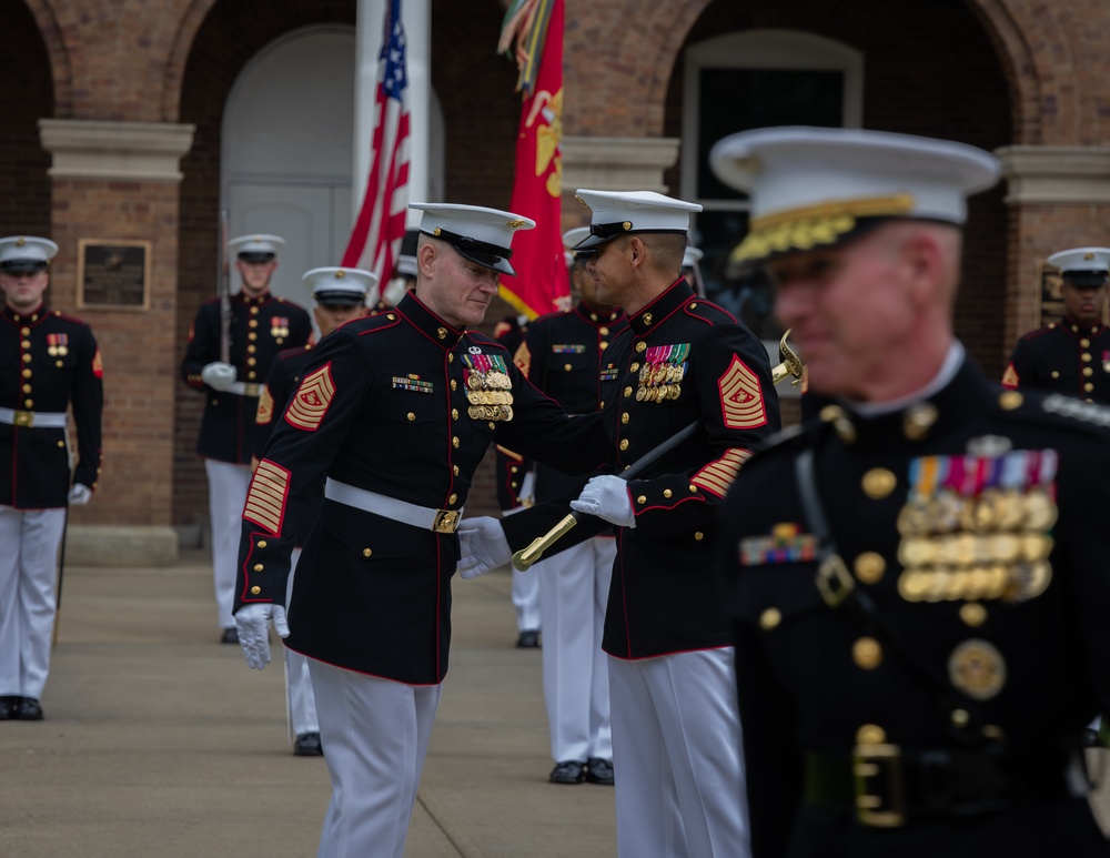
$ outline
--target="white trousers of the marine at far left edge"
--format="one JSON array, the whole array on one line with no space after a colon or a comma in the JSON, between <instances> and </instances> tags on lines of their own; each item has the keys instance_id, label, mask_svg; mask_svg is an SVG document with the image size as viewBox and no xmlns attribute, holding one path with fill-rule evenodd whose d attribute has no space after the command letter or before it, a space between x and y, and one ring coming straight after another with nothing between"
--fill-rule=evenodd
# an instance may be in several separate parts
<instances>
[{"instance_id":1,"label":"white trousers of the marine at far left edge","mask_svg":"<svg viewBox=\"0 0 1110 858\"><path fill-rule=\"evenodd\" d=\"M42 697L65 509L0 506L0 696Z\"/></svg>"}]
</instances>

